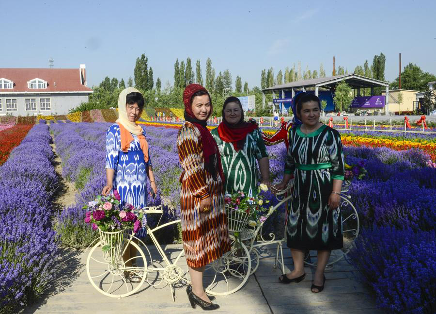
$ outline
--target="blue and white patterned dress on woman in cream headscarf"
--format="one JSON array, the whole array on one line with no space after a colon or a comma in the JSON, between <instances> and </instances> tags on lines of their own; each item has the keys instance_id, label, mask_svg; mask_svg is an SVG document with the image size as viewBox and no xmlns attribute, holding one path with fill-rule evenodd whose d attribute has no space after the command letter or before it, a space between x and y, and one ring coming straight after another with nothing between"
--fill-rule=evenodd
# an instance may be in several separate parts
<instances>
[{"instance_id":1,"label":"blue and white patterned dress on woman in cream headscarf","mask_svg":"<svg viewBox=\"0 0 436 314\"><path fill-rule=\"evenodd\" d=\"M125 203L136 208L147 206L147 167L151 158L144 161L144 153L137 135L130 133L133 141L127 152L121 150L121 132L118 124L113 124L106 132L106 169L114 169L113 188L121 197L121 206ZM142 133L145 136L145 130ZM149 154L150 156L150 154ZM144 221L145 222L145 215ZM145 228L141 228L136 236L145 236Z\"/></svg>"}]
</instances>

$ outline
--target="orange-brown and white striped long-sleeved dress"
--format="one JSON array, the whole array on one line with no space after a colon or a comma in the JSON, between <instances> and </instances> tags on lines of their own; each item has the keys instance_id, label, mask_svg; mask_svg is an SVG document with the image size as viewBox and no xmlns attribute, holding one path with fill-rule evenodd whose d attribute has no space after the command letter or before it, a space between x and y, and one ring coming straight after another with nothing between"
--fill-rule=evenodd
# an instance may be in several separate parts
<instances>
[{"instance_id":1,"label":"orange-brown and white striped long-sleeved dress","mask_svg":"<svg viewBox=\"0 0 436 314\"><path fill-rule=\"evenodd\" d=\"M223 187L204 168L201 135L185 122L177 135L177 149L183 168L180 209L182 238L189 267L205 266L230 250L227 216L224 211ZM200 201L211 197L213 206L200 212Z\"/></svg>"}]
</instances>

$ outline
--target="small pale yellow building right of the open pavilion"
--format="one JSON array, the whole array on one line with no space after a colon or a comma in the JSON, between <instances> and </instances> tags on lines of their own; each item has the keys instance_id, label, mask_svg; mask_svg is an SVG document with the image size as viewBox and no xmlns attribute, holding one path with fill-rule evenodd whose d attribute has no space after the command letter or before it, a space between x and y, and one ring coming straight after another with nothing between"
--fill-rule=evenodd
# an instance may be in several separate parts
<instances>
[{"instance_id":1,"label":"small pale yellow building right of the open pavilion","mask_svg":"<svg viewBox=\"0 0 436 314\"><path fill-rule=\"evenodd\" d=\"M416 93L417 90L391 89L389 90L388 104L385 108L388 115L409 115L417 109ZM403 100L400 103L400 93ZM382 96L385 92L382 91Z\"/></svg>"}]
</instances>

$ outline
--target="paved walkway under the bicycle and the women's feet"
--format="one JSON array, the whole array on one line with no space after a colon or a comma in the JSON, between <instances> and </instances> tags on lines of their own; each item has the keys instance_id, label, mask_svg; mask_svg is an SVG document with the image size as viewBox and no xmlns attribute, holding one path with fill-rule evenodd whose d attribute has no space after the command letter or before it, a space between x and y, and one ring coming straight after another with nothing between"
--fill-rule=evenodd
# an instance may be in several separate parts
<instances>
[{"instance_id":1,"label":"paved walkway under the bicycle and the women's feet","mask_svg":"<svg viewBox=\"0 0 436 314\"><path fill-rule=\"evenodd\" d=\"M177 251L181 246L167 246ZM57 286L48 291L37 303L23 311L26 314L139 314L139 313L201 313L188 303L185 287L176 290L172 302L168 286L154 288L144 284L140 291L122 299L106 297L98 293L88 281L85 263L89 249L83 255L66 250L60 260ZM157 251L151 250L158 259ZM284 249L287 266L292 267L289 249ZM320 294L310 291L314 269L306 267L307 276L300 283L278 283L281 273L273 268L275 248L270 246L262 252L260 265L255 275L238 292L217 297L220 309L215 313L381 313L375 309L374 297L367 287L355 279L355 270L346 261L340 261L326 272L326 288ZM159 257L160 258L160 257ZM180 261L185 265L186 261ZM286 271L288 269L286 268ZM206 280L206 279L205 279Z\"/></svg>"}]
</instances>

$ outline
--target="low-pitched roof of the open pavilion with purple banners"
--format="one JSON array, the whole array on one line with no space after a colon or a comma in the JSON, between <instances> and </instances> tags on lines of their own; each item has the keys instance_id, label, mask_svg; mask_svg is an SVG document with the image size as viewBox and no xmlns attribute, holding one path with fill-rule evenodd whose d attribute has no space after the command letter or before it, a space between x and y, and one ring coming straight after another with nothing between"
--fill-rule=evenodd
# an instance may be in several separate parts
<instances>
[{"instance_id":1,"label":"low-pitched roof of the open pavilion with purple banners","mask_svg":"<svg viewBox=\"0 0 436 314\"><path fill-rule=\"evenodd\" d=\"M311 80L289 82L289 83L265 88L262 90L262 105L263 107L265 107L265 92L272 91L273 102L279 102L279 103L287 102L290 104L291 101L290 99L293 98L296 92L298 91L306 92L309 89L312 91L314 90L315 95L319 97L320 89L323 91L326 90L334 93L334 91L336 90L336 85L338 85L341 82L346 82L352 89L356 89L358 96L360 96L360 89L362 88L370 88L371 96L373 96L374 87L384 86L386 88L386 94L384 95L385 106L388 104L388 97L389 97L388 82L383 82L362 75L351 73L351 74L336 75L336 76L323 77L323 78L317 78Z\"/></svg>"}]
</instances>

